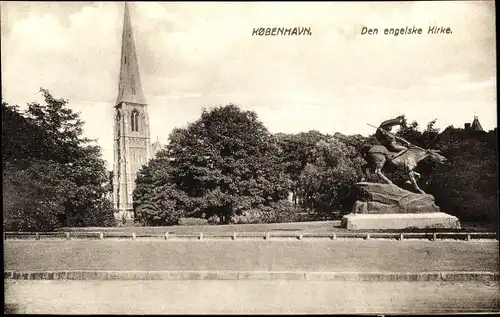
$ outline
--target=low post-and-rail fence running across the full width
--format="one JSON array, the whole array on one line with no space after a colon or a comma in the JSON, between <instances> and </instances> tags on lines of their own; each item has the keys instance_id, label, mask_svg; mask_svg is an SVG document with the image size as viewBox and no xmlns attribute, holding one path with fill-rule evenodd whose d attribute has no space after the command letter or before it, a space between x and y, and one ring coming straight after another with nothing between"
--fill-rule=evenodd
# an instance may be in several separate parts
<instances>
[{"instance_id":1,"label":"low post-and-rail fence running across the full width","mask_svg":"<svg viewBox=\"0 0 500 317\"><path fill-rule=\"evenodd\" d=\"M495 232L196 232L196 233L144 233L109 231L72 231L72 232L4 232L4 240L72 240L72 239L163 239L163 240L311 240L311 239L408 239L438 240L498 240Z\"/></svg>"}]
</instances>

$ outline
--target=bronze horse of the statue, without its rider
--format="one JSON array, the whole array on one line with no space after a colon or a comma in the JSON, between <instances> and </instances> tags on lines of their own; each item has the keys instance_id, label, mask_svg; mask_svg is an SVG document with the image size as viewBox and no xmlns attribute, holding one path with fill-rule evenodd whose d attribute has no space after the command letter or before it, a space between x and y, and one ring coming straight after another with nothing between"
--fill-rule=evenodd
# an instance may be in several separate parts
<instances>
[{"instance_id":1,"label":"bronze horse of the statue, without its rider","mask_svg":"<svg viewBox=\"0 0 500 317\"><path fill-rule=\"evenodd\" d=\"M431 160L436 161L439 164L446 162L446 158L439 153L439 150L426 150L418 146L410 146L403 153L393 157L394 153L389 152L389 150L387 150L387 148L383 145L364 146L361 149L361 154L367 161L367 164L363 166L365 176L361 181L365 181L370 175L370 170L374 170L374 173L382 178L386 183L393 184L390 179L382 174L382 169L386 163L389 163L393 167L403 170L415 190L421 194L425 194L425 192L417 185L417 179L420 178L420 174L415 172L414 169L417 167L419 162L427 157L430 157Z\"/></svg>"}]
</instances>

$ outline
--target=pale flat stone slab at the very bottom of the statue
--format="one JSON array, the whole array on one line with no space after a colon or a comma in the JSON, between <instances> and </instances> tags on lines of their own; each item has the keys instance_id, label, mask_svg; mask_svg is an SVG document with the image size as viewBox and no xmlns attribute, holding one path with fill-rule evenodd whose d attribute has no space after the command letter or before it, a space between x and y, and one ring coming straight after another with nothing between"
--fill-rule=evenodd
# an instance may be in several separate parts
<instances>
[{"instance_id":1,"label":"pale flat stone slab at the very bottom of the statue","mask_svg":"<svg viewBox=\"0 0 500 317\"><path fill-rule=\"evenodd\" d=\"M348 214L342 218L342 228L363 229L460 229L457 217L443 212L409 214Z\"/></svg>"}]
</instances>

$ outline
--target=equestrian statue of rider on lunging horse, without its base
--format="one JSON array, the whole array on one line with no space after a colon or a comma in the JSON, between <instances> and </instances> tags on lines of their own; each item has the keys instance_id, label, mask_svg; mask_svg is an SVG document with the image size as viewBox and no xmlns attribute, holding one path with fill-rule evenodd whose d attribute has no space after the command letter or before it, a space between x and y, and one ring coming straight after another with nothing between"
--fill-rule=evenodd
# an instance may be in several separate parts
<instances>
[{"instance_id":1,"label":"equestrian statue of rider on lunging horse, without its base","mask_svg":"<svg viewBox=\"0 0 500 317\"><path fill-rule=\"evenodd\" d=\"M404 171L415 190L421 194L425 194L417 185L417 179L420 178L420 174L415 172L414 169L419 162L427 157L440 164L446 162L446 158L439 154L439 150L423 149L392 133L391 129L394 126L401 126L403 120L403 116L398 116L382 122L375 133L375 137L381 145L365 145L361 149L361 154L367 161L367 164L363 166L365 176L361 181L365 181L373 171L375 175L379 176L387 184L393 184L390 179L382 174L384 166L390 164L396 169Z\"/></svg>"}]
</instances>

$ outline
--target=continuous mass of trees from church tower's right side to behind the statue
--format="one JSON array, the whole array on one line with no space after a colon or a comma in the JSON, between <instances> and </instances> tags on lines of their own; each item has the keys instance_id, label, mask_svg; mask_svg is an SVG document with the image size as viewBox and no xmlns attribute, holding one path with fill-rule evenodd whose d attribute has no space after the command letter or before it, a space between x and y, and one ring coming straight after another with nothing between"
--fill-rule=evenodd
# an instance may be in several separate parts
<instances>
[{"instance_id":1,"label":"continuous mass of trees from church tower's right side to behind the statue","mask_svg":"<svg viewBox=\"0 0 500 317\"><path fill-rule=\"evenodd\" d=\"M442 150L449 160L445 165L423 161L417 168L419 186L436 197L443 212L494 222L496 130L440 132L435 123L421 131L417 122L405 119L397 132L415 145ZM186 129L175 130L167 148L139 172L136 212L149 225L188 216L209 223L335 219L362 177L361 148L376 143L373 135L318 131L273 136L255 113L234 105L204 111ZM407 181L402 171L384 173L398 185Z\"/></svg>"}]
</instances>

